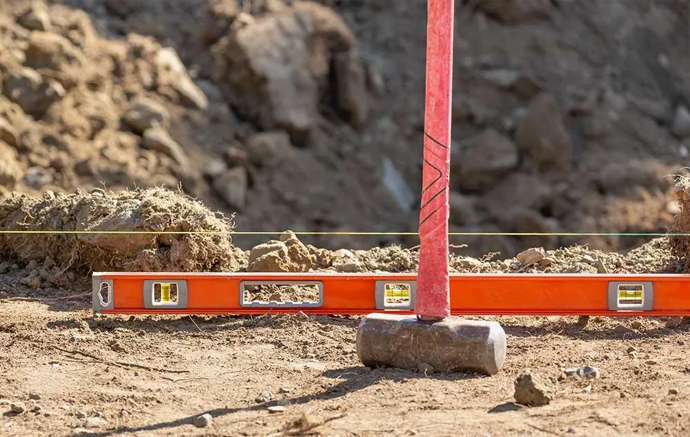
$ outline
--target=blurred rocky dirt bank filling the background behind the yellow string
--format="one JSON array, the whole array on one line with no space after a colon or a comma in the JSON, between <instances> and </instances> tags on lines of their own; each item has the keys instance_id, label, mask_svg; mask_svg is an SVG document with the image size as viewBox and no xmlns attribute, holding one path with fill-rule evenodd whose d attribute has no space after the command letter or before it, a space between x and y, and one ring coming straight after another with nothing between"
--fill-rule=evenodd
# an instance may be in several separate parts
<instances>
[{"instance_id":1,"label":"blurred rocky dirt bank filling the background behind the yellow string","mask_svg":"<svg viewBox=\"0 0 690 437\"><path fill-rule=\"evenodd\" d=\"M0 196L181 183L243 230L415 231L419 199L396 193L421 183L426 2L319 3L3 3ZM672 0L458 2L452 230L665 231L665 175L690 146L689 13ZM644 241L453 240L475 256Z\"/></svg>"}]
</instances>

